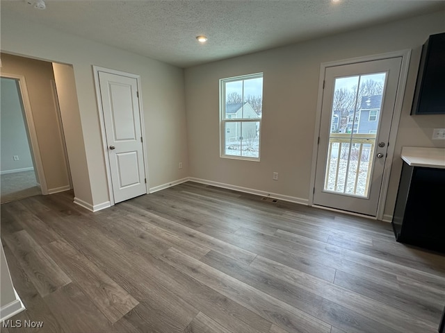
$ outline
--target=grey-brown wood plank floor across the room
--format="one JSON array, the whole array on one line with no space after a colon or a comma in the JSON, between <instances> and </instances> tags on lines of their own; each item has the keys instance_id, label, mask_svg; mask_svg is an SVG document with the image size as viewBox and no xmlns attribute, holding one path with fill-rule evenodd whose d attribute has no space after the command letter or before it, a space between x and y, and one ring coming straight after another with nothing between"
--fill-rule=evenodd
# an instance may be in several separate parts
<instances>
[{"instance_id":1,"label":"grey-brown wood plank floor across the room","mask_svg":"<svg viewBox=\"0 0 445 333\"><path fill-rule=\"evenodd\" d=\"M194 182L96 213L6 203L1 239L39 332L423 333L445 305L445 256L389 223Z\"/></svg>"}]
</instances>

